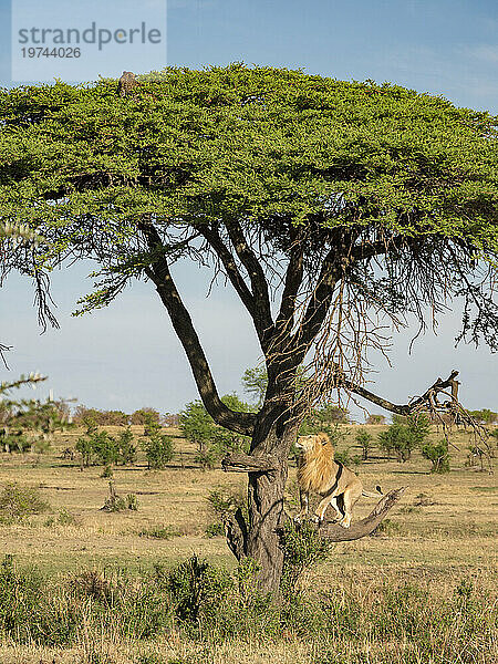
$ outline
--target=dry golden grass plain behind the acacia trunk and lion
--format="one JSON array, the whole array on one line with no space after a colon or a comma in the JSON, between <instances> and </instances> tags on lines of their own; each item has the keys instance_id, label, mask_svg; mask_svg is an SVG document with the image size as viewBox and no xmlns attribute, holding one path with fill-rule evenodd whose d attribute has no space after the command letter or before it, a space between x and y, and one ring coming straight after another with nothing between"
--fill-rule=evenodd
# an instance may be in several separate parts
<instances>
[{"instance_id":1,"label":"dry golden grass plain behind the acacia trunk and lion","mask_svg":"<svg viewBox=\"0 0 498 664\"><path fill-rule=\"evenodd\" d=\"M113 428L108 427L110 432ZM366 427L377 434L382 426ZM353 454L356 427L347 427L345 445ZM113 432L112 432L113 433ZM135 435L142 427L134 427ZM148 567L156 560L174 562L193 551L216 562L232 563L221 537L208 539L204 531L212 521L207 496L214 487L245 491L245 476L219 469L203 471L193 463L194 448L175 436L175 458L165 470L147 470L145 460L117 467L114 481L120 495L136 494L138 511L101 511L108 492L102 467L83 471L79 461L61 458L81 432L58 435L50 455L0 456L0 486L7 481L40 487L52 515L32 517L21 525L0 526L2 551L20 562L56 571L92 566ZM437 438L437 433L433 433ZM355 468L366 488L380 484L384 491L406 486L402 502L388 516L385 535L338 544L331 564L480 568L495 563L497 498L495 476L466 467L468 434L456 433L452 449L452 473L430 475L429 463L415 453L405 464L378 459ZM421 499L418 496L424 495ZM426 505L428 502L428 505ZM421 505L422 504L422 505ZM375 505L362 498L354 518L362 518ZM295 468L290 469L289 511L297 509ZM68 510L74 525L59 525L58 513ZM52 517L52 518L51 518ZM53 521L52 525L48 525ZM139 532L170 526L179 535L169 540L139 537Z\"/></svg>"}]
</instances>

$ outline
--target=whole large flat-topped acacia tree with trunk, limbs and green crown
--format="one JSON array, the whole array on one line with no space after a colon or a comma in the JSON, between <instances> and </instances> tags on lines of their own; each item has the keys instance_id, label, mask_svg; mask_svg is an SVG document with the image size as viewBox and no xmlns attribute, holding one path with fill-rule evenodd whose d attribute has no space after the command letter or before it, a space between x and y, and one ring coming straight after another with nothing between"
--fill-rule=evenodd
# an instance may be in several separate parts
<instances>
[{"instance_id":1,"label":"whole large flat-topped acacia tree with trunk, limbs and green crown","mask_svg":"<svg viewBox=\"0 0 498 664\"><path fill-rule=\"evenodd\" d=\"M239 558L259 562L266 590L282 572L287 458L310 400L347 391L401 415L422 403L365 388L369 350L383 350L377 317L415 314L424 328L427 308L434 320L461 297L459 339L497 345L487 113L395 85L237 64L168 69L127 96L113 80L3 91L0 123L0 221L43 238L6 237L3 272L33 279L43 324L55 324L49 271L66 261L101 266L80 312L133 279L155 287L206 409L251 437L246 458L226 461L249 474L249 522L239 513L229 535ZM257 413L219 397L175 283L184 258L222 273L249 312L268 374ZM297 390L303 364L312 380Z\"/></svg>"}]
</instances>

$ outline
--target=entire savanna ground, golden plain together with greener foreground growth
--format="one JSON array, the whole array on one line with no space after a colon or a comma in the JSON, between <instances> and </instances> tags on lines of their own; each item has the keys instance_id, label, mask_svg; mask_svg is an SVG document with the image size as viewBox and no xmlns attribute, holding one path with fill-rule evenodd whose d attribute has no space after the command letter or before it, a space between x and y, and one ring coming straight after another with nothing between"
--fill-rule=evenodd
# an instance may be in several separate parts
<instances>
[{"instance_id":1,"label":"entire savanna ground, golden plain together with greener foreground growth","mask_svg":"<svg viewBox=\"0 0 498 664\"><path fill-rule=\"evenodd\" d=\"M375 438L385 427L361 428ZM352 456L359 429L344 427ZM243 494L245 475L203 471L168 429L166 469L148 470L141 455L114 469L116 491L134 494L138 509L106 512L102 466L81 470L77 455L62 455L81 433L58 434L48 454L0 455L0 489L32 487L49 506L0 523L2 557L13 557L0 573L2 664L496 661L496 480L468 465L469 434L452 434L445 475L430 475L419 452L400 464L374 448L355 471L365 488L407 487L402 501L375 537L333 544L300 592L270 605L249 570L237 574L224 537L206 535L216 520L209 492ZM293 464L288 486L292 513ZM355 518L375 502L363 498Z\"/></svg>"}]
</instances>

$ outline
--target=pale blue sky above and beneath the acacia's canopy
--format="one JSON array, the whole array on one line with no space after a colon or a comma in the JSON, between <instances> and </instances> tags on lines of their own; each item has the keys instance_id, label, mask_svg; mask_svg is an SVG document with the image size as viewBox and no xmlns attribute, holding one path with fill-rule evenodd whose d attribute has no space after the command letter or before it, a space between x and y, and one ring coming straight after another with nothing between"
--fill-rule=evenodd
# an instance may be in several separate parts
<instances>
[{"instance_id":1,"label":"pale blue sky above and beneath the acacia's canopy","mask_svg":"<svg viewBox=\"0 0 498 664\"><path fill-rule=\"evenodd\" d=\"M72 4L76 13L87 7ZM9 6L0 0L0 84L6 86L12 84ZM170 0L167 42L168 64L242 60L299 66L344 80L391 81L498 113L498 4L491 1ZM152 66L126 62L122 69L141 73ZM102 71L96 68L94 77ZM85 273L81 266L54 274L61 330L42 336L29 283L17 277L7 282L0 340L14 345L10 375L39 370L50 376L56 396L102 408L151 405L175 412L196 398L183 349L151 284L135 284L108 310L72 319L75 300L89 290ZM215 289L206 300L208 276L197 267L181 266L177 274L220 392L240 391L241 373L258 360L247 315L228 289ZM457 319L457 313L447 315L438 335L419 339L412 356L409 334L396 336L394 367L378 364L376 390L404 402L456 367L465 404L498 411L496 356L473 346L455 350Z\"/></svg>"}]
</instances>

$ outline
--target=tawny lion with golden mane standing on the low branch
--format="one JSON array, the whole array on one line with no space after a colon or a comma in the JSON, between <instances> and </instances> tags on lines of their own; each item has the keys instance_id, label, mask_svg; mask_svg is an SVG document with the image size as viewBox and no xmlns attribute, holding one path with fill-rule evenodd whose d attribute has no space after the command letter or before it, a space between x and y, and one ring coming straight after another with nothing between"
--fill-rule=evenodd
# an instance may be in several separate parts
<instances>
[{"instance_id":1,"label":"tawny lion with golden mane standing on the low branch","mask_svg":"<svg viewBox=\"0 0 498 664\"><path fill-rule=\"evenodd\" d=\"M323 432L312 436L300 436L295 444L301 454L298 458L298 485L301 511L295 517L299 521L309 512L310 491L322 496L314 520L323 521L326 508L332 506L343 528L351 526L351 517L355 502L361 496L374 498L383 496L381 487L376 494L363 490L363 485L352 470L340 461L334 461L334 448Z\"/></svg>"}]
</instances>

